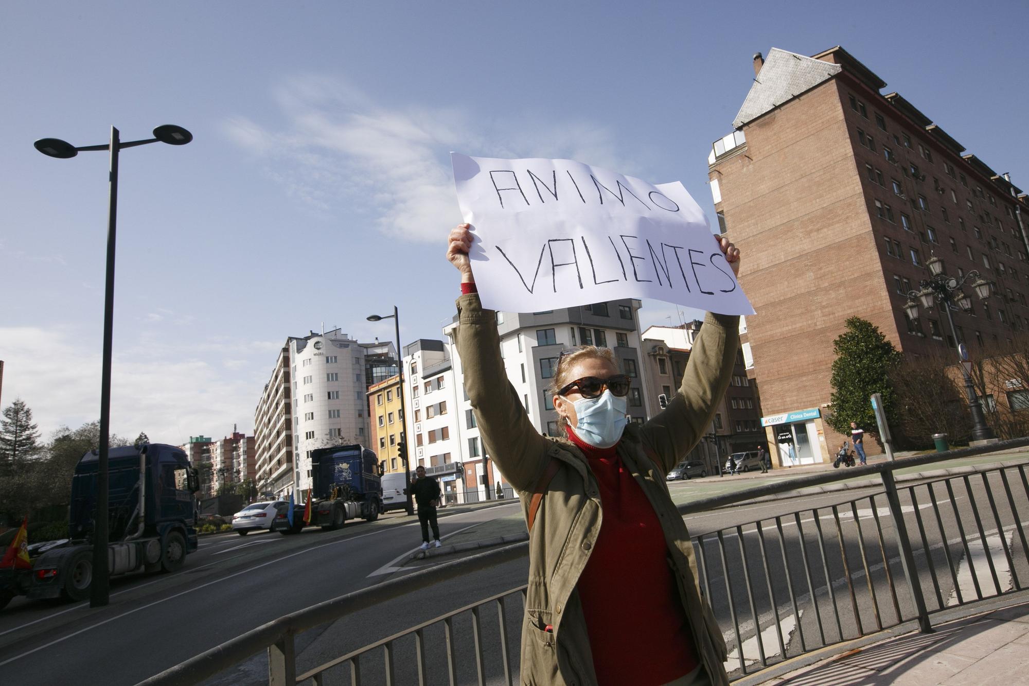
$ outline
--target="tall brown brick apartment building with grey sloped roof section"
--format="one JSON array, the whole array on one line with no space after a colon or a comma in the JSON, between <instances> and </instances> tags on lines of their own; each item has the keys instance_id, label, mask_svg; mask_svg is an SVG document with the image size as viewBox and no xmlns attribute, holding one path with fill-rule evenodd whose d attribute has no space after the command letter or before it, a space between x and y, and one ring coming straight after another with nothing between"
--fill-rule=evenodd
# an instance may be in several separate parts
<instances>
[{"instance_id":1,"label":"tall brown brick apartment building with grey sloped roof section","mask_svg":"<svg viewBox=\"0 0 1029 686\"><path fill-rule=\"evenodd\" d=\"M773 459L827 460L844 440L822 415L847 317L904 354L956 347L938 308L903 313L930 255L949 275L978 270L993 283L986 303L954 313L972 357L1025 335L1026 196L899 94L883 95L885 81L842 47L773 48L754 56L754 74L733 133L713 145L711 190L721 232L746 254L748 353Z\"/></svg>"}]
</instances>

